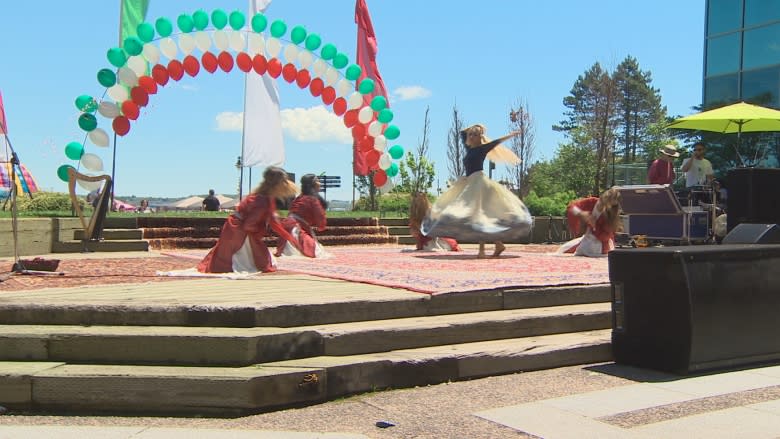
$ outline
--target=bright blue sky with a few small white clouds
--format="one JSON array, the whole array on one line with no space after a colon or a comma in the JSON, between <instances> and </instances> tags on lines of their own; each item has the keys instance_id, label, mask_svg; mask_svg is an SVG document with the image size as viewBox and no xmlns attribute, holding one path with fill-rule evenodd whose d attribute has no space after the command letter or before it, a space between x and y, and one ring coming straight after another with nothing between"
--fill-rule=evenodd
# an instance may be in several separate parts
<instances>
[{"instance_id":1,"label":"bright blue sky with a few small white clouds","mask_svg":"<svg viewBox=\"0 0 780 439\"><path fill-rule=\"evenodd\" d=\"M455 104L467 124L483 123L488 135L498 137L508 129L509 108L526 102L536 128L535 158L549 159L564 140L552 130L563 118L563 98L594 62L611 70L627 55L637 58L652 72L670 115L690 114L701 101L703 0L482 0L468 8L464 2L367 3L393 123L401 130L397 143L416 148L430 107L430 156L442 186ZM216 8L246 12L247 1L151 0L147 21L168 17L175 23L182 13ZM56 170L76 164L65 156L65 145L84 139L74 100L103 94L96 73L110 67L106 51L118 43L119 1L9 2L2 9L0 91L9 139L42 188L67 191ZM353 0L274 0L266 15L318 33L353 62L353 11ZM153 95L130 133L119 138L117 195L186 197L209 188L236 193L241 132L230 121L243 111L243 75L238 69L201 70ZM279 89L285 168L299 176L339 175L343 187L328 191L328 199L351 200L346 128L308 91L284 81ZM110 131L107 119L98 120ZM86 152L100 156L111 173L110 148L87 142ZM261 172L253 171L253 185Z\"/></svg>"}]
</instances>

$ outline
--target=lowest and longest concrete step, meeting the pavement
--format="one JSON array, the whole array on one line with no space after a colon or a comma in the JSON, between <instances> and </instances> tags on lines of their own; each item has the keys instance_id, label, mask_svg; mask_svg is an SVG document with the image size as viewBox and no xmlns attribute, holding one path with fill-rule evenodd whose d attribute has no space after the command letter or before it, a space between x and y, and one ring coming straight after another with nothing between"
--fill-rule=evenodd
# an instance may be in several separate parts
<instances>
[{"instance_id":1,"label":"lowest and longest concrete step, meeting the pavement","mask_svg":"<svg viewBox=\"0 0 780 439\"><path fill-rule=\"evenodd\" d=\"M344 395L609 361L610 331L319 356L247 367L0 362L11 410L238 416Z\"/></svg>"}]
</instances>

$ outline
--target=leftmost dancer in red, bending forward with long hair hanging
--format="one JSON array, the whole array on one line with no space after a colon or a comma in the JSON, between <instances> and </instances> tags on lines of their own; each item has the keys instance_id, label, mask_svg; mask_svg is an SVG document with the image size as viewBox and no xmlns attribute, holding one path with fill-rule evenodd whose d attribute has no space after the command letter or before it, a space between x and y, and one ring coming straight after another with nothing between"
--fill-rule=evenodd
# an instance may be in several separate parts
<instances>
[{"instance_id":1,"label":"leftmost dancer in red, bending forward with long hair hanging","mask_svg":"<svg viewBox=\"0 0 780 439\"><path fill-rule=\"evenodd\" d=\"M276 271L276 261L263 238L268 236L270 228L279 236L291 239L276 215L275 199L290 197L296 192L295 184L287 179L283 169L266 169L260 186L241 200L236 212L225 221L217 245L198 264L198 271Z\"/></svg>"}]
</instances>

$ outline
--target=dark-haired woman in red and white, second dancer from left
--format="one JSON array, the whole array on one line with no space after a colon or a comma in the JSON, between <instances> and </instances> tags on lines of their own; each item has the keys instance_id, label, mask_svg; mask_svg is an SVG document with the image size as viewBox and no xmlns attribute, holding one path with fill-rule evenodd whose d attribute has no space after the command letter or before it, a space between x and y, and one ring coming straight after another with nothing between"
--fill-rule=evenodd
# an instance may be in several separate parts
<instances>
[{"instance_id":1,"label":"dark-haired woman in red and white, second dancer from left","mask_svg":"<svg viewBox=\"0 0 780 439\"><path fill-rule=\"evenodd\" d=\"M316 231L325 230L325 200L320 198L320 181L314 174L301 177L301 194L293 200L282 226L294 242L280 237L276 244L276 256L307 256L318 258L325 250L317 240ZM300 249L300 250L298 250Z\"/></svg>"}]
</instances>

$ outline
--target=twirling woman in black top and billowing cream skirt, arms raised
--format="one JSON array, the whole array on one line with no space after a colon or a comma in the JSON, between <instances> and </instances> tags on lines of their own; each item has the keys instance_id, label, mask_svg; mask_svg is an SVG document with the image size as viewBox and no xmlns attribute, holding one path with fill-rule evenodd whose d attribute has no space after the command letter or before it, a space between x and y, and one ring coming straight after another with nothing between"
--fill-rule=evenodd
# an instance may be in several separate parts
<instances>
[{"instance_id":1,"label":"twirling woman in black top and billowing cream skirt, arms raised","mask_svg":"<svg viewBox=\"0 0 780 439\"><path fill-rule=\"evenodd\" d=\"M485 158L493 162L517 164L520 159L501 142L518 132L490 141L483 125L461 131L467 147L463 159L466 176L460 177L431 208L422 224L426 236L451 236L460 241L479 242L477 257L485 257L485 242L493 241L493 257L504 251L503 241L531 231L531 214L520 198L488 178L483 172Z\"/></svg>"}]
</instances>

